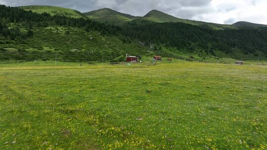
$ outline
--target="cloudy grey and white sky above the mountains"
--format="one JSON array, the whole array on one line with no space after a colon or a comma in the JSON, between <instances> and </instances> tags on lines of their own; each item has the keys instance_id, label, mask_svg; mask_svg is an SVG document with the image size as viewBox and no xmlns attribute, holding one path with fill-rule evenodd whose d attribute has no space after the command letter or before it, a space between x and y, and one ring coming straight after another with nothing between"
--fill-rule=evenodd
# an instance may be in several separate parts
<instances>
[{"instance_id":1,"label":"cloudy grey and white sky above the mountains","mask_svg":"<svg viewBox=\"0 0 267 150\"><path fill-rule=\"evenodd\" d=\"M267 24L267 0L0 0L0 4L53 5L87 12L108 7L135 16L152 9L179 18L232 24L237 21Z\"/></svg>"}]
</instances>

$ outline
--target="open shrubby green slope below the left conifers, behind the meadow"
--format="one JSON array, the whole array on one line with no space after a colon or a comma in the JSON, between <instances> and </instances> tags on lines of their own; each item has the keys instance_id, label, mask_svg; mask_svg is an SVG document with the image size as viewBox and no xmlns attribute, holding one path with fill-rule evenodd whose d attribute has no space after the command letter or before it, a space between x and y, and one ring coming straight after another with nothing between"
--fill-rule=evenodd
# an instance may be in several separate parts
<instances>
[{"instance_id":1,"label":"open shrubby green slope below the left conifers, behind the meadow","mask_svg":"<svg viewBox=\"0 0 267 150\"><path fill-rule=\"evenodd\" d=\"M16 24L21 30L24 26ZM145 48L137 42L125 43L115 36L101 35L97 31L48 26L34 27L33 37L27 39L6 39L0 36L0 60L53 60L59 61L101 61L113 60L126 53L138 55Z\"/></svg>"}]
</instances>

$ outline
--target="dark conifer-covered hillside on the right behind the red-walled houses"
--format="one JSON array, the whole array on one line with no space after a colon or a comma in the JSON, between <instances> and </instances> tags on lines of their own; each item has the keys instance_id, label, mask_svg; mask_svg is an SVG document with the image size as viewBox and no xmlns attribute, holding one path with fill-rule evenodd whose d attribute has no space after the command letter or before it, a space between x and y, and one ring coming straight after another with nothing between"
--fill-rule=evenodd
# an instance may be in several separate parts
<instances>
[{"instance_id":1,"label":"dark conifer-covered hillside on the right behind the red-walled houses","mask_svg":"<svg viewBox=\"0 0 267 150\"><path fill-rule=\"evenodd\" d=\"M267 28L213 30L184 23L132 22L123 28L123 33L147 44L164 43L192 53L239 59L267 57Z\"/></svg>"}]
</instances>

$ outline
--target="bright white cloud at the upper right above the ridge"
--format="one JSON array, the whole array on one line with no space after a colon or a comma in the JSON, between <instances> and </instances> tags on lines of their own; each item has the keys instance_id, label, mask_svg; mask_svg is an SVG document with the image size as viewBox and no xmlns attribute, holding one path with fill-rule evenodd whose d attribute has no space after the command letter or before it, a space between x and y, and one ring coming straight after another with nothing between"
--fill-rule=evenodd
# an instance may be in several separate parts
<instances>
[{"instance_id":1,"label":"bright white cloud at the upper right above the ridge","mask_svg":"<svg viewBox=\"0 0 267 150\"><path fill-rule=\"evenodd\" d=\"M213 0L214 12L203 14L204 20L224 23L229 21L249 21L267 24L267 0Z\"/></svg>"}]
</instances>

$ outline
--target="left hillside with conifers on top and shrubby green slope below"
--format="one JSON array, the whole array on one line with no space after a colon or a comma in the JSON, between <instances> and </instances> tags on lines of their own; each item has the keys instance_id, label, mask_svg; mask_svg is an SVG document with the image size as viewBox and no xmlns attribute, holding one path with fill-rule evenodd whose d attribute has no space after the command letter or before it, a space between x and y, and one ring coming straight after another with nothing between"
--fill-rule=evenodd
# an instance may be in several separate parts
<instances>
[{"instance_id":1,"label":"left hillside with conifers on top and shrubby green slope below","mask_svg":"<svg viewBox=\"0 0 267 150\"><path fill-rule=\"evenodd\" d=\"M0 60L54 59L97 61L143 54L137 41L116 26L84 18L33 13L0 5Z\"/></svg>"}]
</instances>

